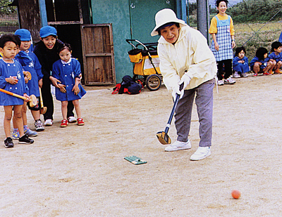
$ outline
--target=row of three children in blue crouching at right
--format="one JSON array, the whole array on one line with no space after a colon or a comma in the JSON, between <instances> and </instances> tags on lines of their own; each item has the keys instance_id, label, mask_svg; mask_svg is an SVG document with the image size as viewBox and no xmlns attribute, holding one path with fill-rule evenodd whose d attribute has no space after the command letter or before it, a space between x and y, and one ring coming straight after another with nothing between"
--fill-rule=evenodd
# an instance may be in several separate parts
<instances>
[{"instance_id":1,"label":"row of three children in blue crouching at right","mask_svg":"<svg viewBox=\"0 0 282 217\"><path fill-rule=\"evenodd\" d=\"M279 41L274 41L271 44L271 51L268 53L264 47L258 48L255 58L248 65L248 59L245 56L245 48L239 47L235 50L235 58L233 58L233 74L234 78L247 77L247 72L254 72L253 76L257 77L257 74L281 74L280 70L282 66L282 44Z\"/></svg>"}]
</instances>

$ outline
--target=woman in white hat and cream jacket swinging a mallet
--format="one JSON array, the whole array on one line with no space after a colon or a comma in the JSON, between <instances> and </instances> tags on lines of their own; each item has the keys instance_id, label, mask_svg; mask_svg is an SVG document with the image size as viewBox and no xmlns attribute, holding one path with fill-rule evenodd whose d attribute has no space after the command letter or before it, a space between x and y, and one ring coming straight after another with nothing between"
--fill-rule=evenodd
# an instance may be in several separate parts
<instances>
[{"instance_id":1,"label":"woman in white hat and cream jacket swinging a mallet","mask_svg":"<svg viewBox=\"0 0 282 217\"><path fill-rule=\"evenodd\" d=\"M161 35L158 45L160 70L173 98L180 94L176 107L175 124L178 138L166 151L191 148L190 132L192 105L195 98L200 122L200 144L191 160L200 160L211 154L213 89L216 60L207 45L207 39L197 30L178 20L171 9L163 9L155 16L156 27L151 35ZM184 82L183 90L180 84Z\"/></svg>"}]
</instances>

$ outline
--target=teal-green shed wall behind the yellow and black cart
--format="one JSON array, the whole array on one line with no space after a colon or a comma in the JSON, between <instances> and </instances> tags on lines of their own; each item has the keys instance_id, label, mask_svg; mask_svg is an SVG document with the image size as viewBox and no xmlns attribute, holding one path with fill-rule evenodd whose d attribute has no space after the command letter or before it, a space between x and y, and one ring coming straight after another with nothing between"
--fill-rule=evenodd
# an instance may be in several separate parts
<instances>
[{"instance_id":1,"label":"teal-green shed wall behind the yellow and black cart","mask_svg":"<svg viewBox=\"0 0 282 217\"><path fill-rule=\"evenodd\" d=\"M137 39L142 43L157 42L151 37L154 15L162 8L176 8L176 0L104 0L91 1L92 23L112 23L116 82L126 74L133 76L133 64L128 51L132 49L125 39ZM132 27L132 30L130 29ZM131 36L132 31L132 36ZM132 38L133 37L133 38Z\"/></svg>"}]
</instances>

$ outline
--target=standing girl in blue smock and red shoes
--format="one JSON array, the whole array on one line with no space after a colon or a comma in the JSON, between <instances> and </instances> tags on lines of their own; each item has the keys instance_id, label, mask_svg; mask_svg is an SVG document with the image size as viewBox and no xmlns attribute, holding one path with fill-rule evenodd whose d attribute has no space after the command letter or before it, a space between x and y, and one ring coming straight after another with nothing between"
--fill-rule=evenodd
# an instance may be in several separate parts
<instances>
[{"instance_id":1,"label":"standing girl in blue smock and red shoes","mask_svg":"<svg viewBox=\"0 0 282 217\"><path fill-rule=\"evenodd\" d=\"M68 101L73 101L75 112L78 116L78 125L84 125L81 118L79 100L85 95L86 91L80 85L80 63L75 58L71 58L71 46L63 44L58 49L61 60L58 60L53 65L52 76L60 82L59 88L56 88L56 99L61 101L61 111L63 120L61 127L68 126L67 106Z\"/></svg>"}]
</instances>

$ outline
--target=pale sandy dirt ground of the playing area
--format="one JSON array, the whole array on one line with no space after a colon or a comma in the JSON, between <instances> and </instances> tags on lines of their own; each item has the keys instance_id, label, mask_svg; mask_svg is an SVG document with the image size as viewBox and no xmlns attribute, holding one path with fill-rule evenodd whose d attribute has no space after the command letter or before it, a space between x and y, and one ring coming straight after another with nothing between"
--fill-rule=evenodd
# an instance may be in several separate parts
<instances>
[{"instance_id":1,"label":"pale sandy dirt ground of the playing area","mask_svg":"<svg viewBox=\"0 0 282 217\"><path fill-rule=\"evenodd\" d=\"M0 216L281 216L282 75L236 81L214 88L212 155L198 162L195 107L191 150L157 140L173 105L164 86L135 96L86 87L85 126L66 129L55 100L54 126L34 144L0 146ZM176 140L174 125L168 134ZM147 164L123 159L132 155Z\"/></svg>"}]
</instances>

